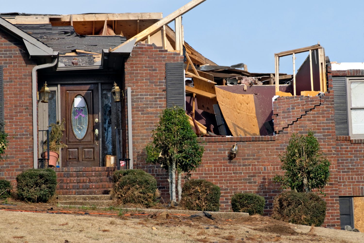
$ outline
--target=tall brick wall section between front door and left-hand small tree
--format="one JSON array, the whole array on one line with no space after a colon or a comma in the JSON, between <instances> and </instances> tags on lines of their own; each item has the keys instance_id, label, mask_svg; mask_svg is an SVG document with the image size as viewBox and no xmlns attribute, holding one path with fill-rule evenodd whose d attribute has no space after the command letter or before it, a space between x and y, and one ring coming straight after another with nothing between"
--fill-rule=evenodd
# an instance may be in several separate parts
<instances>
[{"instance_id":1,"label":"tall brick wall section between front door and left-hand small tree","mask_svg":"<svg viewBox=\"0 0 364 243\"><path fill-rule=\"evenodd\" d=\"M125 86L131 87L133 164L135 169L152 173L166 195L166 173L159 165L145 163L144 148L152 141L151 131L167 107L166 63L183 62L183 56L150 44L138 44L131 55L125 62Z\"/></svg>"}]
</instances>

